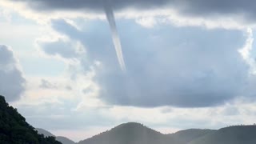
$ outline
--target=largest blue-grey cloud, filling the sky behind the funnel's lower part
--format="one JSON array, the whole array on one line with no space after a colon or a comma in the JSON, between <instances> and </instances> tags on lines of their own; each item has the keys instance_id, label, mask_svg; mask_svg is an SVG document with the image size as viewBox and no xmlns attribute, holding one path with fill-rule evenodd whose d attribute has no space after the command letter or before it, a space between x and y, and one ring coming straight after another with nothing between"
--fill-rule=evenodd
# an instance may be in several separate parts
<instances>
[{"instance_id":1,"label":"largest blue-grey cloud, filling the sky behind the funnel's lower part","mask_svg":"<svg viewBox=\"0 0 256 144\"><path fill-rule=\"evenodd\" d=\"M200 107L217 106L242 94L248 66L238 53L246 42L241 31L165 25L146 30L123 19L118 24L121 38L126 39L122 42L126 73L118 68L104 21L86 23L89 31L76 30L64 20L53 21L54 30L86 47L81 62L85 70L89 61L102 62L95 80L103 101L122 106Z\"/></svg>"}]
</instances>

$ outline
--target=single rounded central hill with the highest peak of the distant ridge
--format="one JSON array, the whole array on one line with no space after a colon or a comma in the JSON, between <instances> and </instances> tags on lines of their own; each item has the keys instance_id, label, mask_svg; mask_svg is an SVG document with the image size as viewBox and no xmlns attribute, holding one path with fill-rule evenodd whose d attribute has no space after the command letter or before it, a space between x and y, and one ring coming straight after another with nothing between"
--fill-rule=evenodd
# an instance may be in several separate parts
<instances>
[{"instance_id":1,"label":"single rounded central hill with the highest peak of the distant ridge","mask_svg":"<svg viewBox=\"0 0 256 144\"><path fill-rule=\"evenodd\" d=\"M170 144L170 137L142 124L129 122L78 144Z\"/></svg>"}]
</instances>

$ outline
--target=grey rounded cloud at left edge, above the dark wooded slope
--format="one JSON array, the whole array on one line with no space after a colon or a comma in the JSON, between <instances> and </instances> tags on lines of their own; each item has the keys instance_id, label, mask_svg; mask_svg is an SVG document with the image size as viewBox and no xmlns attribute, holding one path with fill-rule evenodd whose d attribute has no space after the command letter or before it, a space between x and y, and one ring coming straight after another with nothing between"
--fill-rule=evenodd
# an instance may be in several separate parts
<instances>
[{"instance_id":1,"label":"grey rounded cloud at left edge, above the dark wooded slope","mask_svg":"<svg viewBox=\"0 0 256 144\"><path fill-rule=\"evenodd\" d=\"M25 82L16 66L13 52L7 46L0 45L0 94L8 102L15 101L25 90Z\"/></svg>"}]
</instances>

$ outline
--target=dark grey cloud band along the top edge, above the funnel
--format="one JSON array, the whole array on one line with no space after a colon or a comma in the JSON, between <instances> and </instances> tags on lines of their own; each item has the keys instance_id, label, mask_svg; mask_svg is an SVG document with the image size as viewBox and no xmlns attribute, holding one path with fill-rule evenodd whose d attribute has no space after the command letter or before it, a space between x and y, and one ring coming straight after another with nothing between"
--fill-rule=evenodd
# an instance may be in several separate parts
<instances>
[{"instance_id":1,"label":"dark grey cloud band along the top edge, above the funnel","mask_svg":"<svg viewBox=\"0 0 256 144\"><path fill-rule=\"evenodd\" d=\"M14 1L14 0L13 0ZM90 10L104 12L106 2L111 3L114 10L129 7L138 10L172 7L181 14L209 16L242 14L248 21L254 21L256 1L253 0L18 0L26 2L34 10ZM15 1L17 2L17 1Z\"/></svg>"}]
</instances>

